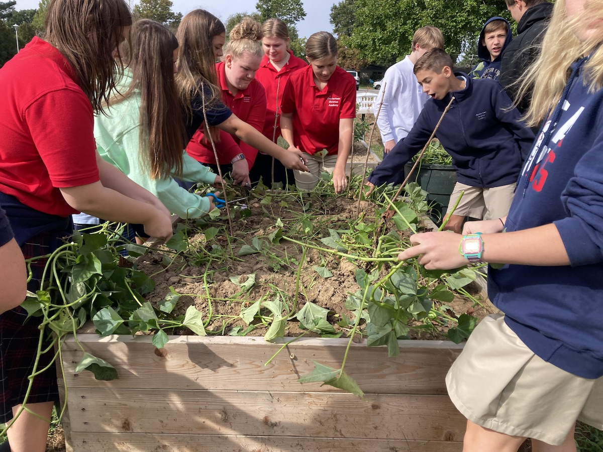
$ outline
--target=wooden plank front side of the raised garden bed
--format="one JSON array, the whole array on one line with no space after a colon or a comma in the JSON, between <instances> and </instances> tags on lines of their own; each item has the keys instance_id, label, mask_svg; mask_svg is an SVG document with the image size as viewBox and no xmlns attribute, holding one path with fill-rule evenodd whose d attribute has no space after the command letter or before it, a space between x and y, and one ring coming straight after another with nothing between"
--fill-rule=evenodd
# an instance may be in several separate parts
<instances>
[{"instance_id":1,"label":"wooden plank front side of the raised garden bed","mask_svg":"<svg viewBox=\"0 0 603 452\"><path fill-rule=\"evenodd\" d=\"M461 451L465 419L446 395L444 376L462 345L399 341L353 344L347 373L364 400L319 383L298 383L320 360L341 365L346 339L301 338L279 349L262 337L78 334L111 362L119 380L75 374L81 351L63 345L68 388L68 451Z\"/></svg>"}]
</instances>

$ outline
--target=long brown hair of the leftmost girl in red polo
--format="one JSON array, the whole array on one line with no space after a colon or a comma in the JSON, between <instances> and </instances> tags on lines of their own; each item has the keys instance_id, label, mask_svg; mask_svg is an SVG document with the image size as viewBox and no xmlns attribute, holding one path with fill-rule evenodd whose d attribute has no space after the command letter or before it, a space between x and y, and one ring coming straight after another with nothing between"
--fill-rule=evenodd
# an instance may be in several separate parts
<instances>
[{"instance_id":1,"label":"long brown hair of the leftmost girl in red polo","mask_svg":"<svg viewBox=\"0 0 603 452\"><path fill-rule=\"evenodd\" d=\"M112 53L131 24L124 0L51 0L48 6L44 39L71 63L95 113L121 75Z\"/></svg>"}]
</instances>

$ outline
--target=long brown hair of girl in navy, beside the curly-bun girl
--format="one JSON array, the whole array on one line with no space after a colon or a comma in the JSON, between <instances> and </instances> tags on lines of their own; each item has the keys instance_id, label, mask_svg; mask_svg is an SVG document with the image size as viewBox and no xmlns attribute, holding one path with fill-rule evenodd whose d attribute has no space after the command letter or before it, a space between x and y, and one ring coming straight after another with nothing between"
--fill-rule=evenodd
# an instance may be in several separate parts
<instances>
[{"instance_id":1,"label":"long brown hair of girl in navy, beside the curly-bun girl","mask_svg":"<svg viewBox=\"0 0 603 452\"><path fill-rule=\"evenodd\" d=\"M212 91L212 96L205 99L206 108L211 107L221 100L221 90L218 87L215 61L213 59L212 40L214 36L226 33L224 24L213 14L206 10L193 10L186 14L180 25L176 37L180 43L178 67L176 75L178 96L184 105L186 115L194 115L191 99L202 96L201 84Z\"/></svg>"}]
</instances>

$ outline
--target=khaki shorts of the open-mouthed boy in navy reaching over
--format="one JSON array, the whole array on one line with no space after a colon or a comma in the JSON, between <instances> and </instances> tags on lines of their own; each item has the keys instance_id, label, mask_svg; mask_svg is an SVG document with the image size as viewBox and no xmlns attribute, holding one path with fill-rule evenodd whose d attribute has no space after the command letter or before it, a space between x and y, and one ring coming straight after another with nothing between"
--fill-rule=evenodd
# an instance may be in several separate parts
<instances>
[{"instance_id":1,"label":"khaki shorts of the open-mouthed boy in navy reaching over","mask_svg":"<svg viewBox=\"0 0 603 452\"><path fill-rule=\"evenodd\" d=\"M452 211L456 199L458 199L461 192L464 191L463 198L461 198L461 202L459 202L458 207L456 207L454 215L470 216L472 218L484 220L507 216L509 208L511 207L511 201L513 201L514 190L515 184L488 189L472 187L457 182L450 195L450 202L448 203L448 210L446 213Z\"/></svg>"}]
</instances>

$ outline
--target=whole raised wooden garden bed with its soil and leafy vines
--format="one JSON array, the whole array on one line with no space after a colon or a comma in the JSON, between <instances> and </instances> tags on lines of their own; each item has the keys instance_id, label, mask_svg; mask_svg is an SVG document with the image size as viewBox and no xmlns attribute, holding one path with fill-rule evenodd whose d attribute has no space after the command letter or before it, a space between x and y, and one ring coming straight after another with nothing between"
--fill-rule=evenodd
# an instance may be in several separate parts
<instances>
[{"instance_id":1,"label":"whole raised wooden garden bed with its soil and leafy vines","mask_svg":"<svg viewBox=\"0 0 603 452\"><path fill-rule=\"evenodd\" d=\"M137 269L117 268L95 249L103 240L84 237L87 248L74 253L98 259L98 269L92 280L74 277L66 298L101 291L89 317L106 337L90 324L63 342L67 450L461 451L466 421L444 377L462 345L418 339L469 334L484 310L473 297L485 298L464 289L475 286L473 270L434 275L399 262L410 230L434 225L401 200L380 227L382 207L363 201L358 215L356 201L327 197L331 190L266 192L247 213L233 210L231 225L215 219L199 233L179 225L177 241L140 257ZM83 264L71 265L81 273ZM464 295L452 293L459 287ZM76 372L82 348L118 379ZM325 377L338 369L341 380Z\"/></svg>"}]
</instances>

